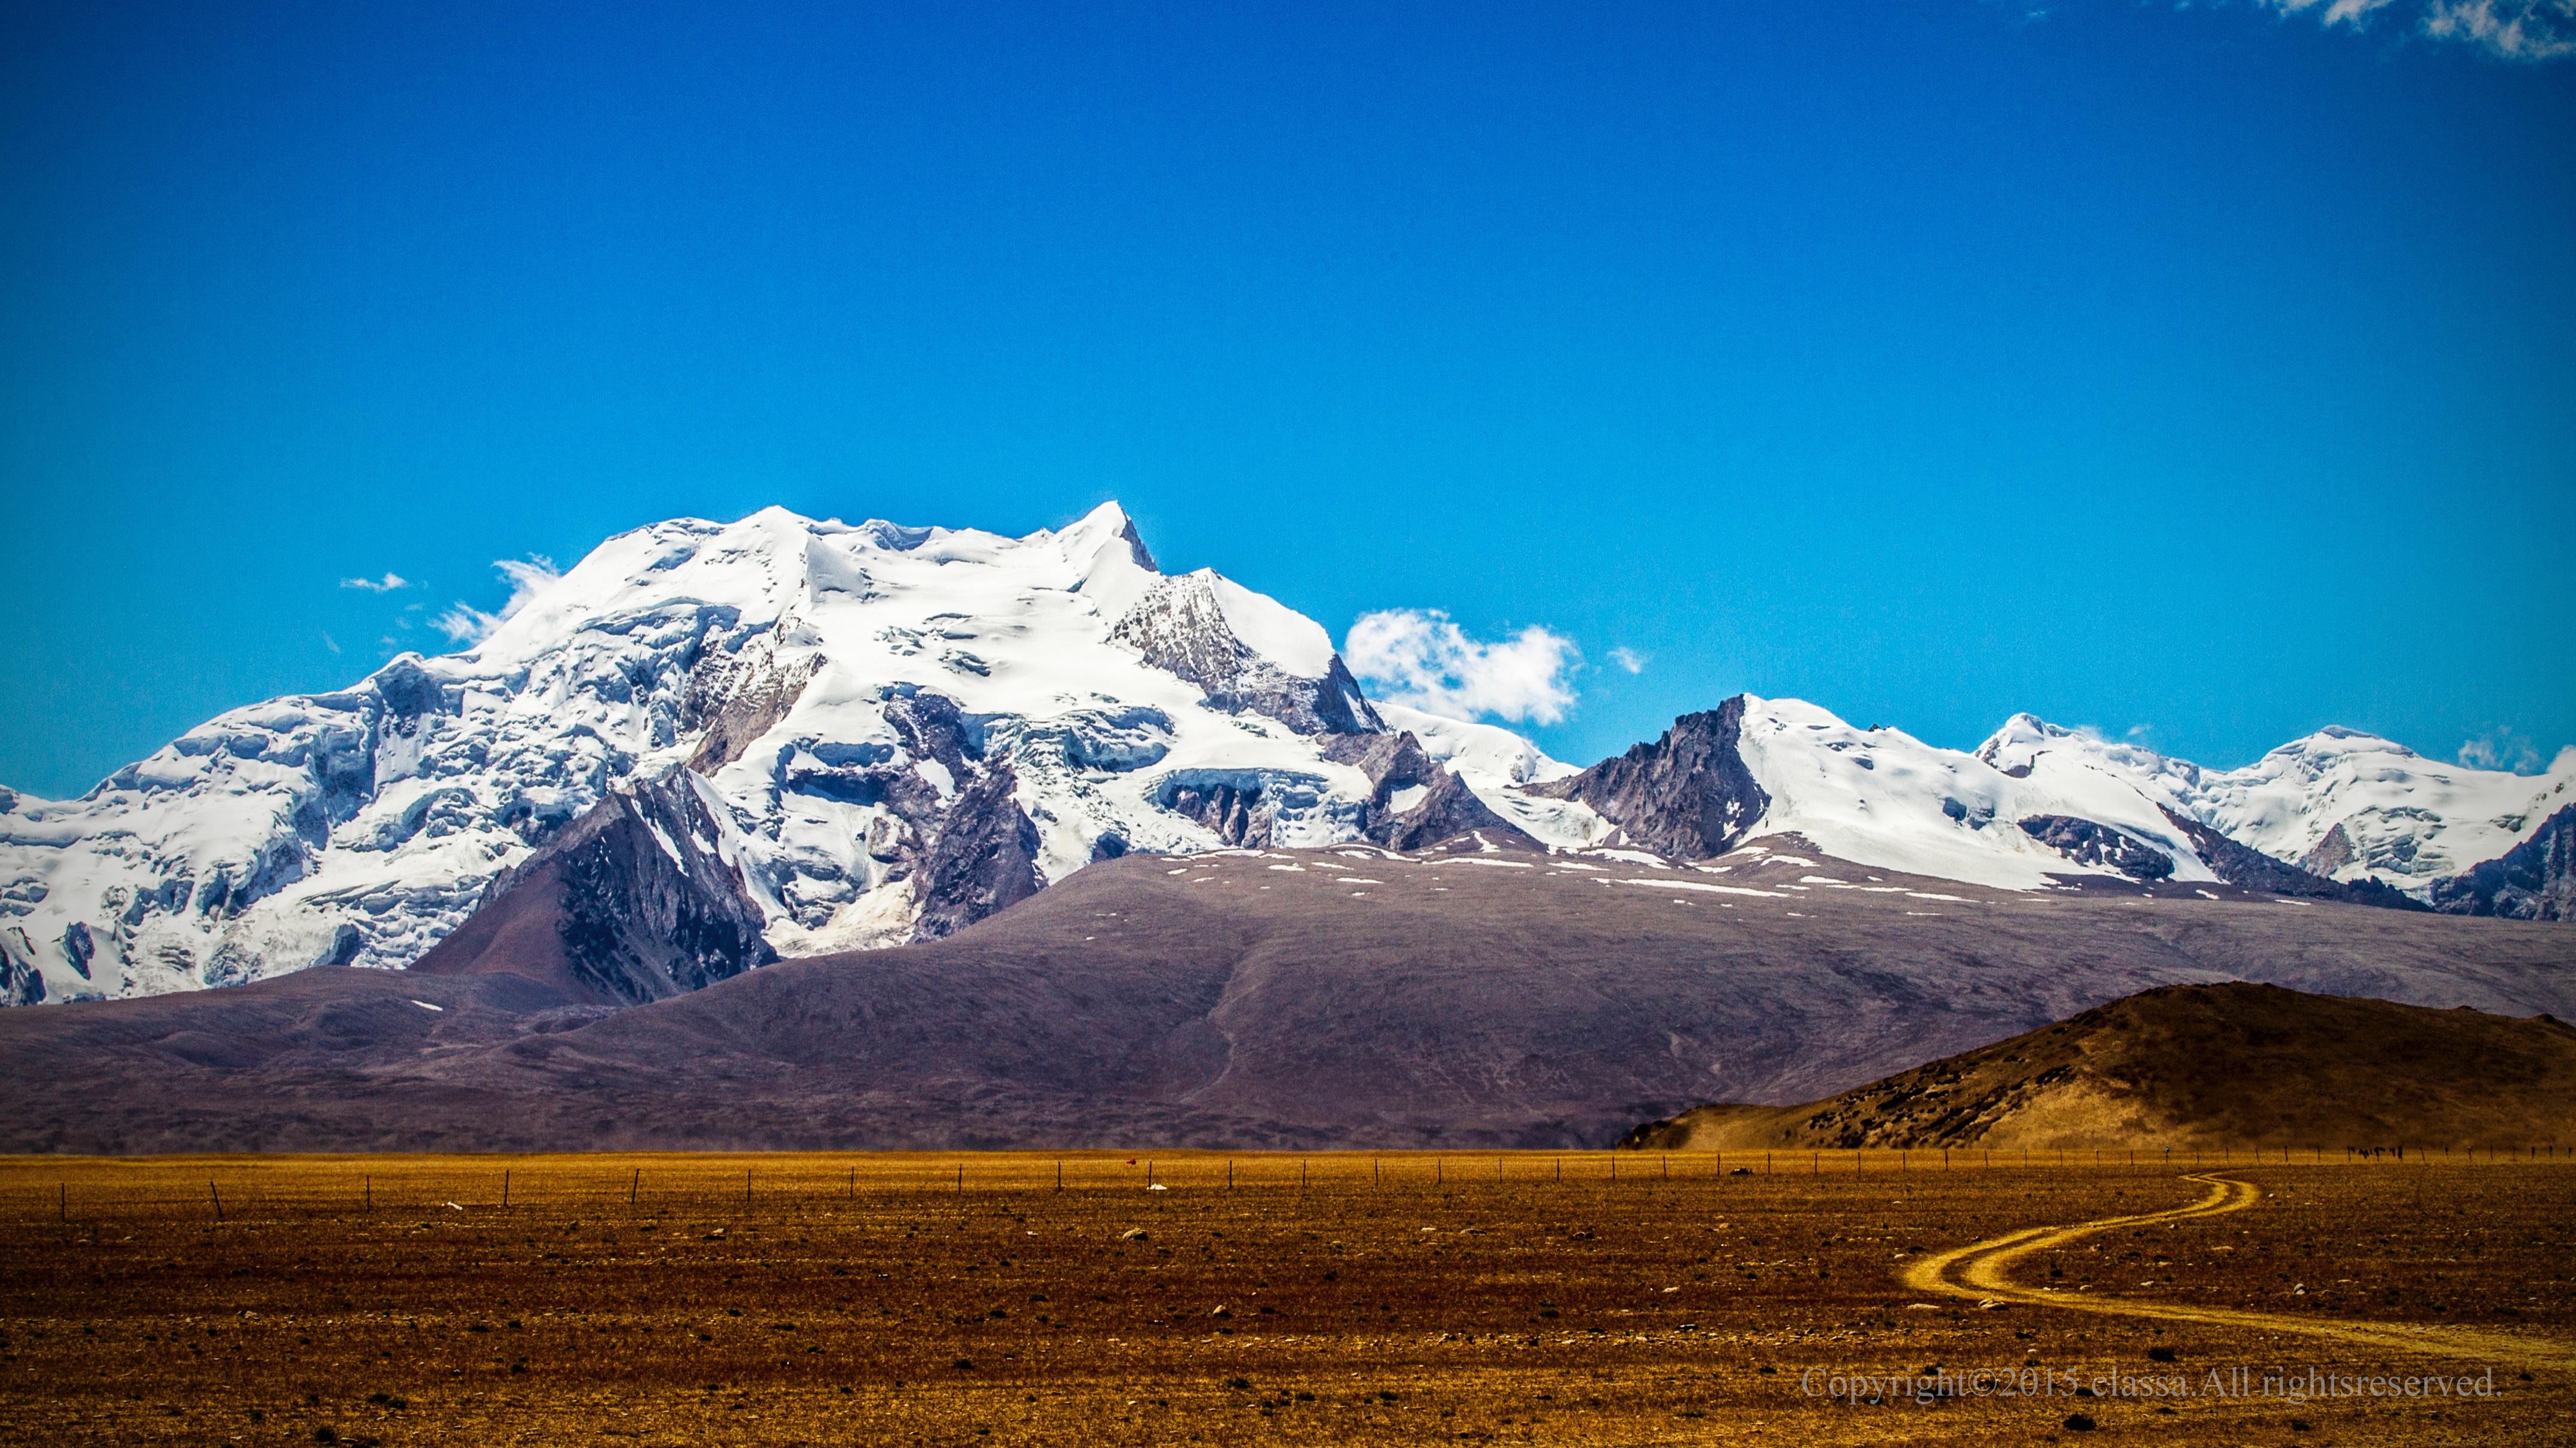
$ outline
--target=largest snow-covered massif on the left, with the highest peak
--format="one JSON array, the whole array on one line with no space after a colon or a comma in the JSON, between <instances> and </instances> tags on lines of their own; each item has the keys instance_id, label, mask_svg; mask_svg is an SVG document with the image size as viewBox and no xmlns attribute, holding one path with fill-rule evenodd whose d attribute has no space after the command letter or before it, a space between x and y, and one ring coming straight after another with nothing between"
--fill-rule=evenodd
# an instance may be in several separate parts
<instances>
[{"instance_id":1,"label":"largest snow-covered massif on the left, with the highest peak","mask_svg":"<svg viewBox=\"0 0 2576 1448\"><path fill-rule=\"evenodd\" d=\"M1414 801L1329 747L1383 729L1321 626L1157 572L1118 505L1025 538L657 523L466 652L237 709L77 801L0 799L0 948L18 1000L402 966L667 776L703 809L662 791L636 827L737 868L778 953L899 943L1103 855L1383 832Z\"/></svg>"}]
</instances>

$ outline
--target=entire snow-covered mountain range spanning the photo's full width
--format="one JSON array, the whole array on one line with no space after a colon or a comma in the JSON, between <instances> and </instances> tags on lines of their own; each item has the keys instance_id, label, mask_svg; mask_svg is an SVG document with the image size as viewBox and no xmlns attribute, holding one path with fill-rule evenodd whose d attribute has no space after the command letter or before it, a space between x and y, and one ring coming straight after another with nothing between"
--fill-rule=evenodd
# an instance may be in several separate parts
<instances>
[{"instance_id":1,"label":"entire snow-covered mountain range spanning the photo's full width","mask_svg":"<svg viewBox=\"0 0 2576 1448\"><path fill-rule=\"evenodd\" d=\"M82 799L0 791L0 1002L410 966L513 889L556 891L513 917L572 979L649 1000L948 935L1131 850L1461 835L2561 917L2571 806L2576 750L2522 778L2329 729L2221 773L2027 714L1960 752L1752 696L1577 770L1373 703L1319 624L1159 572L1118 505L1025 538L770 508L616 536L471 649L237 709Z\"/></svg>"}]
</instances>

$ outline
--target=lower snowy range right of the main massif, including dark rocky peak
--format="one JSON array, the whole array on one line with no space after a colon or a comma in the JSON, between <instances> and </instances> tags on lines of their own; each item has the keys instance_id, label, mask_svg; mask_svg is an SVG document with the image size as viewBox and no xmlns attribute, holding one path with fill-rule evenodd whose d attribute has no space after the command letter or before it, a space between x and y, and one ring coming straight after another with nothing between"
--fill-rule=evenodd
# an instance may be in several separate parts
<instances>
[{"instance_id":1,"label":"lower snowy range right of the main massif, including dark rocky peak","mask_svg":"<svg viewBox=\"0 0 2576 1448\"><path fill-rule=\"evenodd\" d=\"M2215 773L2030 714L1960 752L1857 729L1814 703L1736 696L1589 770L1510 786L1589 806L1589 832L1499 809L1551 843L1682 861L1798 835L1857 866L1994 889L2123 876L2555 920L2568 881L2553 843L2576 835L2576 817L2558 819L2571 778L2576 752L2524 778L2439 765L2349 729ZM2365 845L2347 855L2349 840ZM2473 866L2517 845L2509 866L2470 881Z\"/></svg>"}]
</instances>

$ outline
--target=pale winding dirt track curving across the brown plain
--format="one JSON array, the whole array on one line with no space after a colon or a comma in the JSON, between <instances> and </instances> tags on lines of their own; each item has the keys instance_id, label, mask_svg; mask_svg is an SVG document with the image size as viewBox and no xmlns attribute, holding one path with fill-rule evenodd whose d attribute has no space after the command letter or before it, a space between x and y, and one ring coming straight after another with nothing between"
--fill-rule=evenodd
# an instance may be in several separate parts
<instances>
[{"instance_id":1,"label":"pale winding dirt track curving across the brown plain","mask_svg":"<svg viewBox=\"0 0 2576 1448\"><path fill-rule=\"evenodd\" d=\"M2120 1226L2161 1226L2166 1221L2192 1221L2197 1216L2226 1216L2262 1201L2262 1190L2236 1177L2195 1172L2182 1177L2202 1183L2210 1196L2172 1211L2141 1216L2105 1216L2076 1226L2025 1226L2004 1237L1953 1247L1904 1268L1901 1281L1922 1293L1984 1296L2020 1301L2030 1306L2061 1306L2069 1311L2094 1311L2102 1317L2151 1317L2159 1322L2200 1322L2210 1327L2244 1327L2254 1332L2295 1332L2300 1337L2326 1337L2357 1348L2398 1348L2434 1358L2470 1358L2494 1366L2522 1368L2576 1368L2576 1348L2566 1342L2514 1337L2506 1332L2481 1332L2476 1327L2419 1327L2409 1322L2331 1322L2318 1317L2290 1317L2280 1311L2244 1311L2233 1306L2184 1306L2174 1301L2136 1301L2115 1296L2063 1293L2025 1288L2012 1281L2012 1268L2030 1255L2050 1252L2081 1242L2097 1232Z\"/></svg>"}]
</instances>

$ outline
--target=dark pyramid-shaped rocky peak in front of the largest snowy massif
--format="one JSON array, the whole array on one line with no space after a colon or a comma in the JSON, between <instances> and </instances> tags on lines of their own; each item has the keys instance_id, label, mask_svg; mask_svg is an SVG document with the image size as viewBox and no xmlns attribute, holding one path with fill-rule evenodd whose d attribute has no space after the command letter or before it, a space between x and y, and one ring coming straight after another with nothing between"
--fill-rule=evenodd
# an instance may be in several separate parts
<instances>
[{"instance_id":1,"label":"dark pyramid-shaped rocky peak in front of the largest snowy massif","mask_svg":"<svg viewBox=\"0 0 2576 1448\"><path fill-rule=\"evenodd\" d=\"M688 773L618 788L495 879L466 930L415 969L469 971L489 933L477 922L526 920L531 910L551 920L569 984L616 1002L662 1000L765 966L778 953L760 933L760 904L742 886L724 830ZM520 891L536 899L507 907Z\"/></svg>"}]
</instances>

